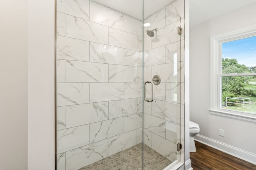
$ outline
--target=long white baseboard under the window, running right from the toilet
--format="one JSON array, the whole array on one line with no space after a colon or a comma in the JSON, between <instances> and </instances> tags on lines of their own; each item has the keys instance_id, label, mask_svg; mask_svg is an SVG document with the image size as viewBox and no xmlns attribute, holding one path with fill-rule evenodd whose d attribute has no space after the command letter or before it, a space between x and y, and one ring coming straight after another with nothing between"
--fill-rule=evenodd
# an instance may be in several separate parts
<instances>
[{"instance_id":1,"label":"long white baseboard under the window, running right from the toilet","mask_svg":"<svg viewBox=\"0 0 256 170\"><path fill-rule=\"evenodd\" d=\"M236 156L242 160L246 160L247 162L250 162L252 164L256 164L256 154L247 152L245 150L232 147L230 145L227 145L225 143L216 141L214 139L210 139L208 137L202 136L197 134L194 137L195 141L198 141L200 143L203 143L205 145L208 145L210 147L213 147L215 149L221 150L222 152L226 152L227 154L230 154L232 156Z\"/></svg>"}]
</instances>

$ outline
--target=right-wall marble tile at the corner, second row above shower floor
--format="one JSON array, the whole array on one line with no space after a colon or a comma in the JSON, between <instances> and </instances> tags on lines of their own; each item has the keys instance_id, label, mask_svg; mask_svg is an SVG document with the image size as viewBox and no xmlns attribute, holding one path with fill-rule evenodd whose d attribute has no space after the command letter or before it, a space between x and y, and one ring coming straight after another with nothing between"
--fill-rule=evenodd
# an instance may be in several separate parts
<instances>
[{"instance_id":1,"label":"right-wall marble tile at the corner, second row above shower floor","mask_svg":"<svg viewBox=\"0 0 256 170\"><path fill-rule=\"evenodd\" d=\"M144 128L165 137L165 120L144 113Z\"/></svg>"}]
</instances>

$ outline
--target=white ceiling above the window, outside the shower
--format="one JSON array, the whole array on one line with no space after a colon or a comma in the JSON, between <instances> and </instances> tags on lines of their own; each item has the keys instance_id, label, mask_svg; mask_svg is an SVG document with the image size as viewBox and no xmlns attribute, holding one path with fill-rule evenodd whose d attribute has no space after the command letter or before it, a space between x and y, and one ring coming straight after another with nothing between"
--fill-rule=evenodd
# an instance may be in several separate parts
<instances>
[{"instance_id":1,"label":"white ceiling above the window, outside the shower","mask_svg":"<svg viewBox=\"0 0 256 170\"><path fill-rule=\"evenodd\" d=\"M190 0L190 27L254 3L256 0Z\"/></svg>"}]
</instances>

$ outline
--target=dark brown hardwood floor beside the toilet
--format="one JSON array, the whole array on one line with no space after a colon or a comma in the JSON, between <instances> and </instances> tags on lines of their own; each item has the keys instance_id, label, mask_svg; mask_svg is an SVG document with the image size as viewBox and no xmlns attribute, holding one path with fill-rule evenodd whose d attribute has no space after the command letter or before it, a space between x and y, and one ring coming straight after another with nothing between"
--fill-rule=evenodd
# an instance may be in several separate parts
<instances>
[{"instance_id":1,"label":"dark brown hardwood floor beside the toilet","mask_svg":"<svg viewBox=\"0 0 256 170\"><path fill-rule=\"evenodd\" d=\"M256 165L196 142L196 152L190 153L194 170L256 170Z\"/></svg>"}]
</instances>

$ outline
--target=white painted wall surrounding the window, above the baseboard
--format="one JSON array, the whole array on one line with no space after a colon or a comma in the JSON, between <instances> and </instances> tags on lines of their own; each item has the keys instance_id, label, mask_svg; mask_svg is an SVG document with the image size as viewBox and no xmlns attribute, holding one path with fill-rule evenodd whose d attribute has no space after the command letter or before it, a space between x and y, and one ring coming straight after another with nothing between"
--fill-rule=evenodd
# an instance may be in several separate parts
<instances>
[{"instance_id":1,"label":"white painted wall surrounding the window, above the baseboard","mask_svg":"<svg viewBox=\"0 0 256 170\"><path fill-rule=\"evenodd\" d=\"M210 36L256 25L256 4L190 27L190 120L200 135L256 154L256 124L211 115ZM218 135L224 129L224 137Z\"/></svg>"}]
</instances>

